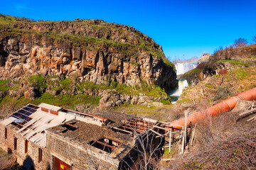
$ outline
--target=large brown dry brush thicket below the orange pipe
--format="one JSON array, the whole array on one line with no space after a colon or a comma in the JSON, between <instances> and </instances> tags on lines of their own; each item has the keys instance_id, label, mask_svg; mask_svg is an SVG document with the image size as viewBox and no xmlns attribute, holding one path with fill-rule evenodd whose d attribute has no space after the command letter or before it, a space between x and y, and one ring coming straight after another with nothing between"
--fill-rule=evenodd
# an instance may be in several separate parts
<instances>
[{"instance_id":1,"label":"large brown dry brush thicket below the orange pipe","mask_svg":"<svg viewBox=\"0 0 256 170\"><path fill-rule=\"evenodd\" d=\"M198 122L197 147L174 169L255 169L255 123L235 124L234 114Z\"/></svg>"}]
</instances>

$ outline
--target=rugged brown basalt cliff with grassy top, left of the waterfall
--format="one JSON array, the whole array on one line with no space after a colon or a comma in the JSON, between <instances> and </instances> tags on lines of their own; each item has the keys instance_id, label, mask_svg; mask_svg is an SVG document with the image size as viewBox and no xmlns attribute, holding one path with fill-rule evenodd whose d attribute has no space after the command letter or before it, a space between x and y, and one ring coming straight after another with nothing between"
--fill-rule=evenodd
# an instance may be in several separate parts
<instances>
[{"instance_id":1,"label":"rugged brown basalt cliff with grassy top, left of the waterfall","mask_svg":"<svg viewBox=\"0 0 256 170\"><path fill-rule=\"evenodd\" d=\"M3 18L3 16L2 16ZM100 20L24 22L0 27L0 79L26 74L134 85L167 91L177 84L161 46L138 30Z\"/></svg>"}]
</instances>

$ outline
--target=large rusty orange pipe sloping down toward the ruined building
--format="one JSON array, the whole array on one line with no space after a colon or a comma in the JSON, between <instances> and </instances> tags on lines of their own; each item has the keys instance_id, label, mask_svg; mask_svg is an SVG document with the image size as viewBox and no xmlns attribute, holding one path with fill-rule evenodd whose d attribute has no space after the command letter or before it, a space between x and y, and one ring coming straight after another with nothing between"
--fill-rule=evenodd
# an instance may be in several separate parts
<instances>
[{"instance_id":1,"label":"large rusty orange pipe sloping down toward the ruined building","mask_svg":"<svg viewBox=\"0 0 256 170\"><path fill-rule=\"evenodd\" d=\"M230 97L225 101L221 101L220 103L211 106L210 108L206 108L203 111L198 111L191 115L188 115L186 124L196 123L197 120L202 120L206 118L206 115L218 115L225 111L231 111L235 108L235 104L238 100L252 101L256 99L256 87L247 91L242 92L236 96ZM184 125L184 118L180 118L178 120L174 120L166 128L176 128L181 129Z\"/></svg>"}]
</instances>

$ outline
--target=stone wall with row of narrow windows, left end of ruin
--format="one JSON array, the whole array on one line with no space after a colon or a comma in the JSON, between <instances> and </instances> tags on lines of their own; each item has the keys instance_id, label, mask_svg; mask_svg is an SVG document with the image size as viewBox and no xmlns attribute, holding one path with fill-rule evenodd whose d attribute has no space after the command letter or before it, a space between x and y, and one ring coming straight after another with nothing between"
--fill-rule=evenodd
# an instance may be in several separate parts
<instances>
[{"instance_id":1,"label":"stone wall with row of narrow windows, left end of ruin","mask_svg":"<svg viewBox=\"0 0 256 170\"><path fill-rule=\"evenodd\" d=\"M5 139L5 128L7 128L7 139ZM17 137L17 149L14 150L14 137ZM4 151L8 152L11 149L17 156L17 162L23 165L26 169L47 169L46 161L46 149L41 148L43 151L43 161L38 162L38 145L28 140L28 152L25 153L25 141L26 139L14 132L13 128L6 127L0 124L0 147Z\"/></svg>"}]
</instances>

